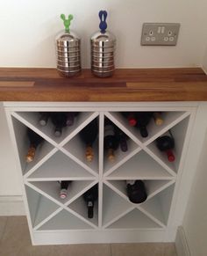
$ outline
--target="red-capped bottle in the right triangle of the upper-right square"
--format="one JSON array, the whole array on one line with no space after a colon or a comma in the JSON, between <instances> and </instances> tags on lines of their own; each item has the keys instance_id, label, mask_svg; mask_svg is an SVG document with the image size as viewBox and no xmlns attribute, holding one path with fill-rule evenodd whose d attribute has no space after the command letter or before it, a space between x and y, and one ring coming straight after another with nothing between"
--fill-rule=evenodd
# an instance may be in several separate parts
<instances>
[{"instance_id":1,"label":"red-capped bottle in the right triangle of the upper-right square","mask_svg":"<svg viewBox=\"0 0 207 256\"><path fill-rule=\"evenodd\" d=\"M166 152L169 162L175 161L175 155L172 151L175 148L175 140L170 131L169 135L163 135L156 139L156 146L159 150Z\"/></svg>"}]
</instances>

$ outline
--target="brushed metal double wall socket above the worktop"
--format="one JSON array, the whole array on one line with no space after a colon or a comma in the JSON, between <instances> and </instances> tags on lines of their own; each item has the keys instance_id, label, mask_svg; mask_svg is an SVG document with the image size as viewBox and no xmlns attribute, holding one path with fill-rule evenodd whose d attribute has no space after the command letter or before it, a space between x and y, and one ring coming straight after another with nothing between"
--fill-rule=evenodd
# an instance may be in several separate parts
<instances>
[{"instance_id":1,"label":"brushed metal double wall socket above the worktop","mask_svg":"<svg viewBox=\"0 0 207 256\"><path fill-rule=\"evenodd\" d=\"M180 23L144 23L142 26L142 46L175 46Z\"/></svg>"}]
</instances>

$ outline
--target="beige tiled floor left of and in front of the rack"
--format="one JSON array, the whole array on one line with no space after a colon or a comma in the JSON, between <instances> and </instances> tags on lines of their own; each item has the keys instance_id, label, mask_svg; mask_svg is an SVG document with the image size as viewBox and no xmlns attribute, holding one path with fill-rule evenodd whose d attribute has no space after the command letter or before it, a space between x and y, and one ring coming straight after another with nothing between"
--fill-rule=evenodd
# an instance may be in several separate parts
<instances>
[{"instance_id":1,"label":"beige tiled floor left of and in front of the rack","mask_svg":"<svg viewBox=\"0 0 207 256\"><path fill-rule=\"evenodd\" d=\"M174 244L32 246L25 216L0 217L0 256L176 256Z\"/></svg>"}]
</instances>

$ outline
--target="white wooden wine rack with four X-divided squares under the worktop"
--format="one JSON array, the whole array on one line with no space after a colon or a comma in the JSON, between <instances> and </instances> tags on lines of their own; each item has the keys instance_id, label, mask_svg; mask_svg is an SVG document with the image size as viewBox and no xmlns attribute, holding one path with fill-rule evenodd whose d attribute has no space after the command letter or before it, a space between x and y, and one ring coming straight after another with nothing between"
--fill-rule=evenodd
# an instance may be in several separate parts
<instances>
[{"instance_id":1,"label":"white wooden wine rack with four X-divided squares under the worktop","mask_svg":"<svg viewBox=\"0 0 207 256\"><path fill-rule=\"evenodd\" d=\"M194 108L190 106L132 106L123 104L94 104L84 107L12 106L6 108L15 145L18 166L23 177L25 208L32 243L104 243L161 241L173 220L176 189L182 173L182 163L189 141ZM128 125L119 111L161 111L164 123L156 126L150 121L148 136L142 138L137 128ZM72 127L63 129L60 138L54 137L54 127L48 121L39 126L39 112L79 112ZM110 163L103 150L104 118L110 119L128 135L128 150L116 150L116 159ZM95 157L88 163L79 132L90 121L98 119L99 134L94 145ZM27 128L44 138L34 161L25 163L28 149ZM175 162L155 146L161 135L172 132L175 138ZM125 179L142 179L147 199L134 204L126 194ZM68 197L59 197L59 180L72 180ZM87 217L82 194L98 184L98 200L94 217ZM148 237L147 237L148 236ZM141 238L142 237L142 238Z\"/></svg>"}]
</instances>

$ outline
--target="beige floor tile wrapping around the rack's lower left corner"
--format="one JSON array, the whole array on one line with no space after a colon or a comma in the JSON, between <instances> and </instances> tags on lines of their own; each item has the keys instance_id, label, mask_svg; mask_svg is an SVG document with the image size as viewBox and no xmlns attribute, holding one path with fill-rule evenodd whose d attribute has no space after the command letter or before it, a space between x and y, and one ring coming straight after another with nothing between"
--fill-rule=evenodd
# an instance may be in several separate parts
<instances>
[{"instance_id":1,"label":"beige floor tile wrapping around the rack's lower left corner","mask_svg":"<svg viewBox=\"0 0 207 256\"><path fill-rule=\"evenodd\" d=\"M32 246L25 216L0 218L0 255L6 256L111 256L111 245ZM5 225L6 223L6 225ZM4 226L5 225L5 226Z\"/></svg>"}]
</instances>

